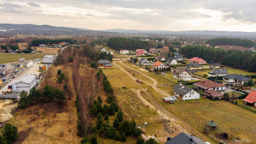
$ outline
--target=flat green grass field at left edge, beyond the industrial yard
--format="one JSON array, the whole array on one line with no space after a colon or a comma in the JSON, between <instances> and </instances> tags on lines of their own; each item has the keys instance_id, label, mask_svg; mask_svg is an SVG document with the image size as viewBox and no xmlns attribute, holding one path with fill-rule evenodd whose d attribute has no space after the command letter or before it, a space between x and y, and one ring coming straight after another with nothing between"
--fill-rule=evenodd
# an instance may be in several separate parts
<instances>
[{"instance_id":1,"label":"flat green grass field at left edge, beyond the industrial yard","mask_svg":"<svg viewBox=\"0 0 256 144\"><path fill-rule=\"evenodd\" d=\"M0 54L0 64L18 62L19 58L25 58L25 60L43 58L45 55L46 54Z\"/></svg>"}]
</instances>

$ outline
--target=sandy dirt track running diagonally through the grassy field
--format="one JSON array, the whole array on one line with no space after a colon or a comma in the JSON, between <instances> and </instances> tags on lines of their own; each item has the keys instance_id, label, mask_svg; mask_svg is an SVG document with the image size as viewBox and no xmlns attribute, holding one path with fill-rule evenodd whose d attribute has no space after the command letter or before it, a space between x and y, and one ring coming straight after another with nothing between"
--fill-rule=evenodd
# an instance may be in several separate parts
<instances>
[{"instance_id":1,"label":"sandy dirt track running diagonally through the grassy field","mask_svg":"<svg viewBox=\"0 0 256 144\"><path fill-rule=\"evenodd\" d=\"M127 72L125 69L123 69L123 67L120 67L120 65L116 64L116 62L113 62L117 67L119 67L121 70L123 70L126 74L128 74L131 79L136 80L135 77L133 77L133 75L131 75L129 72ZM125 65L122 62L120 62L121 65ZM157 81L155 79L153 79L152 77L143 74L142 72L133 69L132 67L129 67L128 65L125 65L125 67L128 67L128 69L132 69L135 70L136 72L138 72L139 74L144 75L145 77L148 77L148 79L151 79L153 81L153 84L150 84L149 82L145 82L146 84L150 85L153 87L153 89L155 89L155 91L160 92L161 94L163 94L164 96L170 96L169 94L167 94L167 92L165 92L162 89L159 89L157 87ZM216 141L212 140L211 138L202 135L201 133L199 133L198 131L194 131L194 129L188 125L186 122L182 121L182 119L177 118L177 116L174 116L172 113L170 113L169 111L167 111L167 109L165 109L158 101L156 101L147 91L145 91L145 89L143 89L143 87L136 83L139 87L140 90L143 91L149 98L150 101L153 102L153 105L155 106L155 108L158 109L159 113L162 115L162 118L168 118L168 119L176 119L176 121L179 121L181 123L181 125L179 125L178 123L176 123L175 121L170 121L171 125L173 125L175 128L177 128L177 130L181 130L185 133L193 133L193 135L198 136L199 138L203 139L204 141L209 141L210 143L216 143Z\"/></svg>"}]
</instances>

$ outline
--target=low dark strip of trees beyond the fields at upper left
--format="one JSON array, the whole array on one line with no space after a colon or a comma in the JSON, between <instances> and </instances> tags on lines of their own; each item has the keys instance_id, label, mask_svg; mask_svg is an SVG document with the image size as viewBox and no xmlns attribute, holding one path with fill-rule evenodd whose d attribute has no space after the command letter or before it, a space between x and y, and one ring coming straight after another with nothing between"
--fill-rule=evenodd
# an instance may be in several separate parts
<instances>
[{"instance_id":1,"label":"low dark strip of trees beyond the fields at upper left","mask_svg":"<svg viewBox=\"0 0 256 144\"><path fill-rule=\"evenodd\" d=\"M52 45L52 44L57 44L57 43L61 43L61 42L67 42L69 44L73 44L72 39L54 39L54 40L52 40L52 39L36 39L36 40L32 40L31 46L38 47L41 44Z\"/></svg>"}]
</instances>

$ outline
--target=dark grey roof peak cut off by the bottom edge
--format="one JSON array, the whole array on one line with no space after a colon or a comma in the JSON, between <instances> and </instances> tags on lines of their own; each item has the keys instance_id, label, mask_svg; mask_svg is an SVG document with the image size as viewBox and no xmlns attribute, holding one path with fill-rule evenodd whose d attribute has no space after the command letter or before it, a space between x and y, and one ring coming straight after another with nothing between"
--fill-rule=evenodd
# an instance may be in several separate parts
<instances>
[{"instance_id":1,"label":"dark grey roof peak cut off by the bottom edge","mask_svg":"<svg viewBox=\"0 0 256 144\"><path fill-rule=\"evenodd\" d=\"M174 138L170 138L165 144L206 144L203 140L197 136L189 135L187 133L181 132Z\"/></svg>"}]
</instances>

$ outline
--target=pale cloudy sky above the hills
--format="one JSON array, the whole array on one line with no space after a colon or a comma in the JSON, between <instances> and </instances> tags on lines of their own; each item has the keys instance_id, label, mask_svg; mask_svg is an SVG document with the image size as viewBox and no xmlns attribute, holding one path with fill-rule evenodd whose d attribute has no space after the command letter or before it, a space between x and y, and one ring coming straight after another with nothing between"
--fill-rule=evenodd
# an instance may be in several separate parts
<instances>
[{"instance_id":1,"label":"pale cloudy sky above the hills","mask_svg":"<svg viewBox=\"0 0 256 144\"><path fill-rule=\"evenodd\" d=\"M255 0L1 0L0 23L90 30L256 31Z\"/></svg>"}]
</instances>

